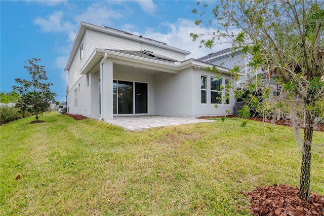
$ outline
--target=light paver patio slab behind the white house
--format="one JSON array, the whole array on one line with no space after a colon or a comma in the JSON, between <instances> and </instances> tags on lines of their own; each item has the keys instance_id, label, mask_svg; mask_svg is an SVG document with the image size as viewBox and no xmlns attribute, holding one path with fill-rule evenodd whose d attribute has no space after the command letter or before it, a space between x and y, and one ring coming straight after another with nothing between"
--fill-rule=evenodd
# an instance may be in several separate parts
<instances>
[{"instance_id":1,"label":"light paver patio slab behind the white house","mask_svg":"<svg viewBox=\"0 0 324 216\"><path fill-rule=\"evenodd\" d=\"M171 116L123 116L114 117L108 123L124 127L128 130L142 130L152 127L164 127L171 125L193 124L199 122L214 122L206 119L171 117Z\"/></svg>"}]
</instances>

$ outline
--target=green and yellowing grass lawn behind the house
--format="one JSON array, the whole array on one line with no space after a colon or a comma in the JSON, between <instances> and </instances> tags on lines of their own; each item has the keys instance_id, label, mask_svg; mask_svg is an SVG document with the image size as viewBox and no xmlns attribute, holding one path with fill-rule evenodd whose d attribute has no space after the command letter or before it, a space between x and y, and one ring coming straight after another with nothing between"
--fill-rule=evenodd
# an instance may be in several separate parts
<instances>
[{"instance_id":1,"label":"green and yellowing grass lawn behind the house","mask_svg":"<svg viewBox=\"0 0 324 216\"><path fill-rule=\"evenodd\" d=\"M290 127L218 119L130 132L56 114L33 120L0 126L3 215L249 215L240 192L299 184ZM324 133L313 142L311 192L324 195Z\"/></svg>"}]
</instances>

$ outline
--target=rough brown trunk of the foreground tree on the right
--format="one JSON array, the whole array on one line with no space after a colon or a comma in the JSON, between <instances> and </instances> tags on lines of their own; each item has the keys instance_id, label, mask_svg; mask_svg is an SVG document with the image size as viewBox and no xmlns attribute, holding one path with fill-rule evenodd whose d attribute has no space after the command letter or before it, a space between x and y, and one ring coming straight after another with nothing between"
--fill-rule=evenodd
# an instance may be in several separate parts
<instances>
[{"instance_id":1,"label":"rough brown trunk of the foreground tree on the right","mask_svg":"<svg viewBox=\"0 0 324 216\"><path fill-rule=\"evenodd\" d=\"M306 125L304 129L299 196L302 200L310 202L310 159L314 119L308 110L306 110L305 114Z\"/></svg>"}]
</instances>

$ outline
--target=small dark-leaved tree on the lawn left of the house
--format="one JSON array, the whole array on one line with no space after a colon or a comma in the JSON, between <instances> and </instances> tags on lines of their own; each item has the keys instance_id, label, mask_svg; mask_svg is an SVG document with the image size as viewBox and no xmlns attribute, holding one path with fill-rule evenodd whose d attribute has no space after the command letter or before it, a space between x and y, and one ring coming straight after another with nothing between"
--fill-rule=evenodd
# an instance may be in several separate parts
<instances>
[{"instance_id":1,"label":"small dark-leaved tree on the lawn left of the house","mask_svg":"<svg viewBox=\"0 0 324 216\"><path fill-rule=\"evenodd\" d=\"M28 71L31 81L15 79L20 86L13 86L13 89L20 94L20 99L16 104L22 113L30 112L36 115L38 121L39 114L46 112L51 102L55 102L56 94L50 91L52 83L45 83L45 66L38 65L40 58L29 59L24 68Z\"/></svg>"}]
</instances>

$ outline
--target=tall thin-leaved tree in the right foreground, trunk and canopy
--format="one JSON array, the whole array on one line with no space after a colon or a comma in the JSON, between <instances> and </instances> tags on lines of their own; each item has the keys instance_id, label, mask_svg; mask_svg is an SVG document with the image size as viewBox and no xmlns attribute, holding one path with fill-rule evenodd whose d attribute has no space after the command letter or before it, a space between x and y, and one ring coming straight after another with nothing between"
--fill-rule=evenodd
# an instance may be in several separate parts
<instances>
[{"instance_id":1,"label":"tall thin-leaved tree in the right foreground, trunk and canopy","mask_svg":"<svg viewBox=\"0 0 324 216\"><path fill-rule=\"evenodd\" d=\"M316 103L324 97L324 2L323 1L221 1L211 12L208 5L192 12L203 19L197 25L210 25L215 32L195 34L201 46L211 48L224 39L251 56L251 74L260 69L267 77L276 76L282 86L280 106L304 118L300 198L310 201L310 167ZM233 76L239 71L234 67ZM257 78L258 76L254 76ZM259 82L258 79L255 79ZM250 83L250 90L260 85ZM263 86L262 99L269 96L270 85ZM235 92L240 97L244 90ZM241 116L250 115L251 107L260 108L260 97L249 95ZM289 105L290 104L290 105ZM302 105L302 110L296 109ZM262 107L262 106L261 106ZM262 110L262 108L261 108Z\"/></svg>"}]
</instances>

